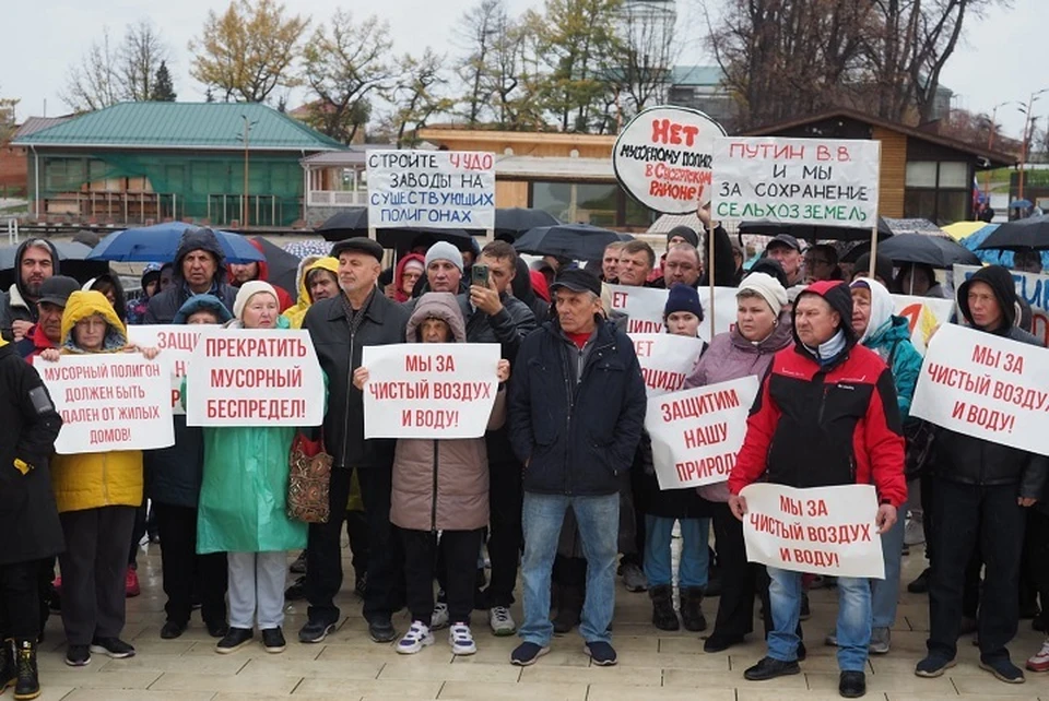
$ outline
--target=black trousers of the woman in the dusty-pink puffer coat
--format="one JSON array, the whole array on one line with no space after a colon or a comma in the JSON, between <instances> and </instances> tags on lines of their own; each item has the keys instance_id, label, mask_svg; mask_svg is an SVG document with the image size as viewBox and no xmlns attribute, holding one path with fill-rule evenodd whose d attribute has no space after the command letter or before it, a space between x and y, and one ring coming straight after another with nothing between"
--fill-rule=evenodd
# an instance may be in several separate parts
<instances>
[{"instance_id":1,"label":"black trousers of the woman in the dusty-pink puffer coat","mask_svg":"<svg viewBox=\"0 0 1049 701\"><path fill-rule=\"evenodd\" d=\"M404 544L404 575L408 583L408 608L412 620L429 625L434 613L434 569L437 563L437 534L431 531L399 528ZM448 619L469 623L473 610L473 590L483 530L443 531L440 545L445 557L445 596ZM307 569L308 571L308 569ZM372 589L372 582L368 582Z\"/></svg>"}]
</instances>

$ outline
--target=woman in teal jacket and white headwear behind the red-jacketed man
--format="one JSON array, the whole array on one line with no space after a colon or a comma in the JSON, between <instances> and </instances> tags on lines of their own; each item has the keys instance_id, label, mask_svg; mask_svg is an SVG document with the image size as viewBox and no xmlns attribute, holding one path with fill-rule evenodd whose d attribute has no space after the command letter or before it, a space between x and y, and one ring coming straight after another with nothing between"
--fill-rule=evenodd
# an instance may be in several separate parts
<instances>
[{"instance_id":1,"label":"woman in teal jacket and white headwear behind the red-jacketed man","mask_svg":"<svg viewBox=\"0 0 1049 701\"><path fill-rule=\"evenodd\" d=\"M899 417L906 424L921 372L921 354L910 343L908 322L893 314L893 296L876 280L857 278L849 289L852 293L852 330L860 335L860 344L880 355L893 371ZM882 535L885 579L871 580L871 652L879 655L888 652L889 630L896 621L904 523L904 519L897 519ZM827 644L837 645L837 640L828 638Z\"/></svg>"}]
</instances>

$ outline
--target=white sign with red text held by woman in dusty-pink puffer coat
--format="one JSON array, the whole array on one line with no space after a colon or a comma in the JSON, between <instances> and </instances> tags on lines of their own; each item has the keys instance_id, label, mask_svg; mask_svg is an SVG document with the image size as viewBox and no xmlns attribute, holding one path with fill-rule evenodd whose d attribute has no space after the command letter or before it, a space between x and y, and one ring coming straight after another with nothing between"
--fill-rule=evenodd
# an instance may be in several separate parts
<instances>
[{"instance_id":1,"label":"white sign with red text held by woman in dusty-pink puffer coat","mask_svg":"<svg viewBox=\"0 0 1049 701\"><path fill-rule=\"evenodd\" d=\"M365 346L365 438L480 438L499 389L497 343Z\"/></svg>"}]
</instances>

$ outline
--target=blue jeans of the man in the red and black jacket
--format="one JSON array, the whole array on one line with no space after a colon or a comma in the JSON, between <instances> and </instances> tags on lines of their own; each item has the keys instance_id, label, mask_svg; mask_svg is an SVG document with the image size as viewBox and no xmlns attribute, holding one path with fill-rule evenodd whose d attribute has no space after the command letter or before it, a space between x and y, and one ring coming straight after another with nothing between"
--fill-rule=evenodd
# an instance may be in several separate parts
<instances>
[{"instance_id":1,"label":"blue jeans of the man in the red and black jacket","mask_svg":"<svg viewBox=\"0 0 1049 701\"><path fill-rule=\"evenodd\" d=\"M801 614L801 572L767 568L773 630L768 656L780 662L798 660L798 618ZM865 672L871 644L871 583L854 577L838 578L838 668Z\"/></svg>"}]
</instances>

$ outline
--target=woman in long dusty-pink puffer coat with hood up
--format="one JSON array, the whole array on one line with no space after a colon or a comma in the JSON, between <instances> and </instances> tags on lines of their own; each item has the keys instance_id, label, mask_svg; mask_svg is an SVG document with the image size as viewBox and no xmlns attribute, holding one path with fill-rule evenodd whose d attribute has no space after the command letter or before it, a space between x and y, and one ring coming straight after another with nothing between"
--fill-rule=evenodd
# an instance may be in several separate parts
<instances>
[{"instance_id":1,"label":"woman in long dusty-pink puffer coat with hood up","mask_svg":"<svg viewBox=\"0 0 1049 701\"><path fill-rule=\"evenodd\" d=\"M459 302L450 293L426 293L408 321L405 337L414 343L465 343L467 328ZM488 429L503 425L510 364L499 360L499 390L492 407ZM354 371L354 384L363 390L367 368ZM414 654L434 643L431 619L434 610L434 568L437 533L448 598L452 654L472 655L478 647L470 630L473 610L474 570L484 527L488 523L488 456L484 438L412 439L397 441L390 521L404 544L404 573L412 625L397 644L400 654Z\"/></svg>"}]
</instances>

